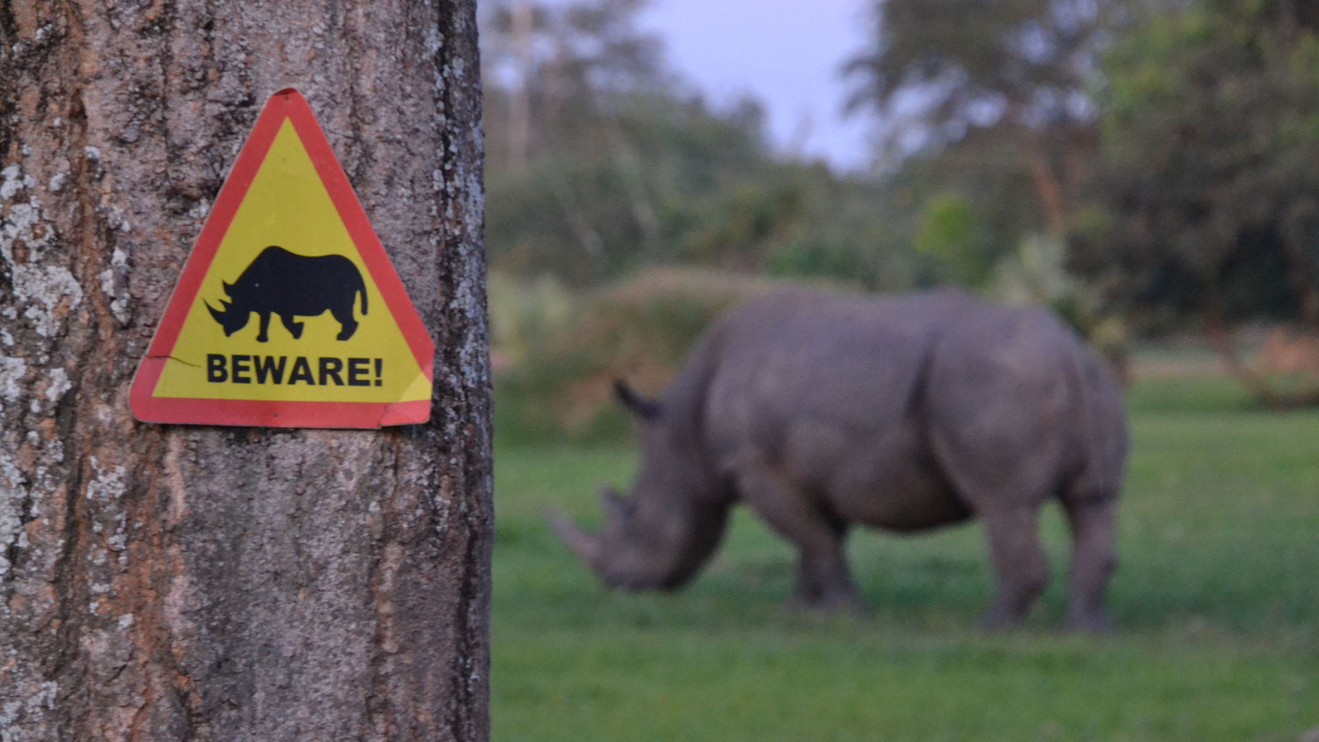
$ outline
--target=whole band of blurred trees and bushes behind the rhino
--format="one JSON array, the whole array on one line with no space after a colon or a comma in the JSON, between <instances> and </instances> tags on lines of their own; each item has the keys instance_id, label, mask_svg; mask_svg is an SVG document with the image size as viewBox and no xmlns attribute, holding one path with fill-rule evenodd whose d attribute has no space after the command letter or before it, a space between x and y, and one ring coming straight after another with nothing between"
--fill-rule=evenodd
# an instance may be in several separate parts
<instances>
[{"instance_id":1,"label":"whole band of blurred trees and bushes behind the rhino","mask_svg":"<svg viewBox=\"0 0 1319 742\"><path fill-rule=\"evenodd\" d=\"M619 360L644 334L624 318L677 313L654 342L685 349L703 320L675 308L714 312L756 276L1050 304L1115 356L1133 334L1204 331L1261 399L1319 399L1275 389L1231 333L1319 330L1319 4L878 0L869 44L839 58L874 124L864 172L776 148L756 100L706 100L642 9L485 5L505 397L562 421L608 375L671 366Z\"/></svg>"}]
</instances>

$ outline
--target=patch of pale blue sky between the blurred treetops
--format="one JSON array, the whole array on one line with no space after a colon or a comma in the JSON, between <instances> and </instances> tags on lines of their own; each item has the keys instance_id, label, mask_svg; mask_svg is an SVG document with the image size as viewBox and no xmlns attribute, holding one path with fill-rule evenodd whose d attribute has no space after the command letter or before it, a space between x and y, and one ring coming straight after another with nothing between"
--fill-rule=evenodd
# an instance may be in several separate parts
<instances>
[{"instance_id":1,"label":"patch of pale blue sky between the blurred treetops","mask_svg":"<svg viewBox=\"0 0 1319 742\"><path fill-rule=\"evenodd\" d=\"M867 0L652 0L644 28L715 103L752 94L781 152L869 162L864 115L843 116L843 62L867 38Z\"/></svg>"}]
</instances>

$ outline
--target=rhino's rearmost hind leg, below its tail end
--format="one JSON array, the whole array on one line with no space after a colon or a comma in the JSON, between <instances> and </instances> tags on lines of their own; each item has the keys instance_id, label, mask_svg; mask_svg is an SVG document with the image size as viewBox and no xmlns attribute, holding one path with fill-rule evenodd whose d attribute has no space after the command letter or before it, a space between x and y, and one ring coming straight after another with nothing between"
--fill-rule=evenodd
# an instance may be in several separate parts
<instances>
[{"instance_id":1,"label":"rhino's rearmost hind leg, below its tail end","mask_svg":"<svg viewBox=\"0 0 1319 742\"><path fill-rule=\"evenodd\" d=\"M1063 502L1072 536L1067 623L1080 631L1108 632L1104 594L1117 565L1113 552L1115 498Z\"/></svg>"}]
</instances>

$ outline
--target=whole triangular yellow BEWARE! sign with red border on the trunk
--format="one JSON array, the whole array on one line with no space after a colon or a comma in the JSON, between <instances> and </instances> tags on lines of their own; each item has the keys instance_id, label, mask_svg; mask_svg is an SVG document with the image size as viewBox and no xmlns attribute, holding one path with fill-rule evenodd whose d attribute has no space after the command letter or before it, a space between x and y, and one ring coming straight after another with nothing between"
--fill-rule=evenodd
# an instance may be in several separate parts
<instances>
[{"instance_id":1,"label":"whole triangular yellow BEWARE! sign with red border on the trunk","mask_svg":"<svg viewBox=\"0 0 1319 742\"><path fill-rule=\"evenodd\" d=\"M129 400L150 422L425 422L434 351L311 108L281 90L216 197Z\"/></svg>"}]
</instances>

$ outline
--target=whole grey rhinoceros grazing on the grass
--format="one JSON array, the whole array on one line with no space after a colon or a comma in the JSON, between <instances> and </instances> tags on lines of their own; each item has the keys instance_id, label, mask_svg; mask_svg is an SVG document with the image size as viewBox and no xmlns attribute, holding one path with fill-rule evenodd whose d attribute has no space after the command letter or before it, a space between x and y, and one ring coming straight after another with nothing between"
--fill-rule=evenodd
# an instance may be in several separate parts
<instances>
[{"instance_id":1,"label":"whole grey rhinoceros grazing on the grass","mask_svg":"<svg viewBox=\"0 0 1319 742\"><path fill-rule=\"evenodd\" d=\"M1038 308L956 290L845 297L787 290L719 318L641 422L632 496L601 491L599 533L546 512L609 586L675 589L710 560L735 503L799 555L793 601L861 610L852 524L918 532L980 519L996 595L1021 621L1049 572L1041 506L1072 543L1067 621L1104 631L1125 412L1107 363Z\"/></svg>"}]
</instances>

